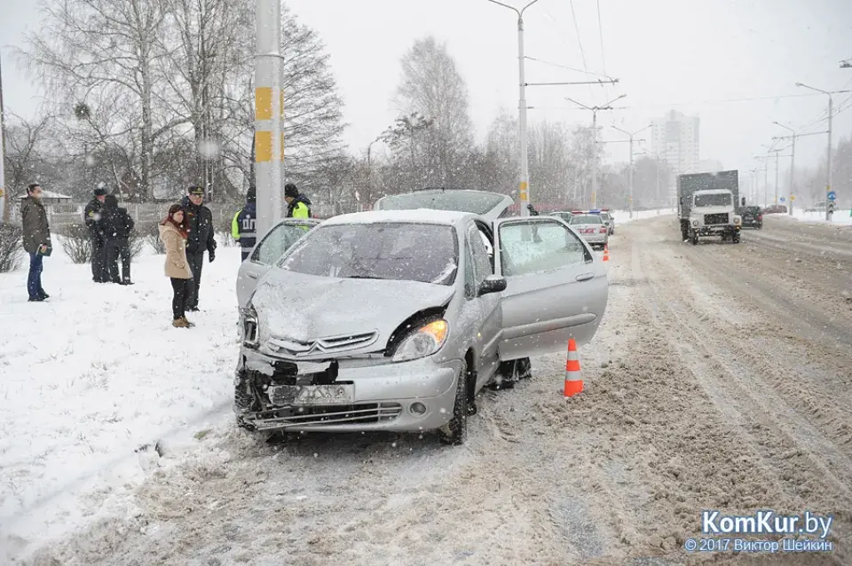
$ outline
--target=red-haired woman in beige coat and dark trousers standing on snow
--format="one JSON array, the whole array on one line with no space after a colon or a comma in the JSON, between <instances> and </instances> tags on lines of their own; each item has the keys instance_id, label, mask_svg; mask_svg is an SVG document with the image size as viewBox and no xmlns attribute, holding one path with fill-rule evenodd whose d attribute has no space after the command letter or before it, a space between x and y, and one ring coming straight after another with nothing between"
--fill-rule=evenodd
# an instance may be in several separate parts
<instances>
[{"instance_id":1,"label":"red-haired woman in beige coat and dark trousers standing on snow","mask_svg":"<svg viewBox=\"0 0 852 566\"><path fill-rule=\"evenodd\" d=\"M171 300L171 311L174 319L172 326L189 328L195 326L186 319L186 299L190 293L190 282L193 271L186 262L186 223L184 209L179 204L169 208L169 216L160 223L160 240L166 248L166 277L171 279L174 297Z\"/></svg>"}]
</instances>

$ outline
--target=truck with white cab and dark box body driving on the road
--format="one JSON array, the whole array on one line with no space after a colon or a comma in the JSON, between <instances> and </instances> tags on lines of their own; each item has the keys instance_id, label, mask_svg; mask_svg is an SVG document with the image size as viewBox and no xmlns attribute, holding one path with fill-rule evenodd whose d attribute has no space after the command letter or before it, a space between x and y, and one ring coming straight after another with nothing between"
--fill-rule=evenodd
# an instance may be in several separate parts
<instances>
[{"instance_id":1,"label":"truck with white cab and dark box body driving on the road","mask_svg":"<svg viewBox=\"0 0 852 566\"><path fill-rule=\"evenodd\" d=\"M682 240L698 244L702 236L739 243L743 219L737 214L737 171L693 173L677 177L677 216ZM743 199L743 205L746 200Z\"/></svg>"}]
</instances>

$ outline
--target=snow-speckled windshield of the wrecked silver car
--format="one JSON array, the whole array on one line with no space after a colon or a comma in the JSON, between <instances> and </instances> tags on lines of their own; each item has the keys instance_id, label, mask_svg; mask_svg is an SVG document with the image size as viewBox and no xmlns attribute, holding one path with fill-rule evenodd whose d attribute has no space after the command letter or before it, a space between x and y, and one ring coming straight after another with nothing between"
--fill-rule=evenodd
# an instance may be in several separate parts
<instances>
[{"instance_id":1,"label":"snow-speckled windshield of the wrecked silver car","mask_svg":"<svg viewBox=\"0 0 852 566\"><path fill-rule=\"evenodd\" d=\"M315 228L280 268L319 277L452 285L455 230L443 224L332 224Z\"/></svg>"}]
</instances>

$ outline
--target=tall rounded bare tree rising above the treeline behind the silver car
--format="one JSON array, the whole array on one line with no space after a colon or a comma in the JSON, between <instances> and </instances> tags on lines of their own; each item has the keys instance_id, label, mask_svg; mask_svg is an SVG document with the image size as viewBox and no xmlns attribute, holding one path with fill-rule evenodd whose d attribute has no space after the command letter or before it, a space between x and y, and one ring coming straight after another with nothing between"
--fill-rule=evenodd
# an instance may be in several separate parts
<instances>
[{"instance_id":1,"label":"tall rounded bare tree rising above the treeline behind the silver car","mask_svg":"<svg viewBox=\"0 0 852 566\"><path fill-rule=\"evenodd\" d=\"M468 90L455 61L434 37L414 42L402 58L398 106L404 114L421 114L432 121L426 134L429 167L441 184L463 175L465 155L473 142L468 114Z\"/></svg>"}]
</instances>

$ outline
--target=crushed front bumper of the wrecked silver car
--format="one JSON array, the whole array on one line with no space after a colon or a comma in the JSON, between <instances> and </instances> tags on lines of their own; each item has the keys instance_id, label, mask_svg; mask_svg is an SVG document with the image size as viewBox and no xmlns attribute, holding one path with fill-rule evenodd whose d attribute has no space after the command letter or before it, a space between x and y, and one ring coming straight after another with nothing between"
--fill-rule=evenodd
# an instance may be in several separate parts
<instances>
[{"instance_id":1,"label":"crushed front bumper of the wrecked silver car","mask_svg":"<svg viewBox=\"0 0 852 566\"><path fill-rule=\"evenodd\" d=\"M441 428L453 418L461 370L461 360L436 364L430 358L367 366L341 363L331 387L346 386L350 398L323 404L280 399L272 403L268 391L280 386L272 370L278 360L252 350L244 350L242 360L234 379L233 411L242 426L266 431L417 432ZM306 385L285 387L298 390Z\"/></svg>"}]
</instances>

